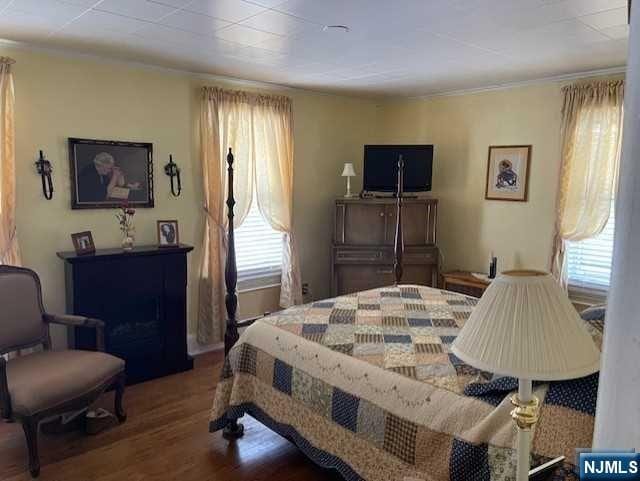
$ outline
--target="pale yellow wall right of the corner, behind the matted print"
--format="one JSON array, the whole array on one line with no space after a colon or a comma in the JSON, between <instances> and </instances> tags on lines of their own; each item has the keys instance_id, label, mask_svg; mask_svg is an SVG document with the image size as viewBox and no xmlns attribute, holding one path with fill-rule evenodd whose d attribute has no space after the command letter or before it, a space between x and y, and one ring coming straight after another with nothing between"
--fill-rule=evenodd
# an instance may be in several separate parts
<instances>
[{"instance_id":1,"label":"pale yellow wall right of the corner, behind the matted print","mask_svg":"<svg viewBox=\"0 0 640 481\"><path fill-rule=\"evenodd\" d=\"M435 145L433 196L445 269L548 269L560 165L561 85L387 102L378 139ZM488 147L532 144L528 202L484 199Z\"/></svg>"}]
</instances>

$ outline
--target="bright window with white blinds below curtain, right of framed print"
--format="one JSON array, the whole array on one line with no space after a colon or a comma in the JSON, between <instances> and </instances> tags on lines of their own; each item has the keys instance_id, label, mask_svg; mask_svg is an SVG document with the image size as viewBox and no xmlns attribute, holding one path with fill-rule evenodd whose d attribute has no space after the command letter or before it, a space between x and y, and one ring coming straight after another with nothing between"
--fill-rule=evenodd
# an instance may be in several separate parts
<instances>
[{"instance_id":1,"label":"bright window with white blinds below curtain, right of framed print","mask_svg":"<svg viewBox=\"0 0 640 481\"><path fill-rule=\"evenodd\" d=\"M609 222L596 237L567 243L569 285L583 289L607 290L611 279L614 205L611 202Z\"/></svg>"}]
</instances>

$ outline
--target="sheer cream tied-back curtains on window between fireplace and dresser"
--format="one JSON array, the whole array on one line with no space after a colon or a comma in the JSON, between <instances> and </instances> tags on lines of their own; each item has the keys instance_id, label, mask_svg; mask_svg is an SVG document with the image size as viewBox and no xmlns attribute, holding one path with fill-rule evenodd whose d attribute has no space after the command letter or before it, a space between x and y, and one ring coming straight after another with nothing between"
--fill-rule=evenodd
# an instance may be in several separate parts
<instances>
[{"instance_id":1,"label":"sheer cream tied-back curtains on window between fireplace and dresser","mask_svg":"<svg viewBox=\"0 0 640 481\"><path fill-rule=\"evenodd\" d=\"M222 340L226 260L227 173L234 155L234 227L247 216L256 190L258 207L274 230L283 233L280 305L302 302L300 269L292 233L293 115L286 97L205 87L200 118L206 212L200 275L198 342Z\"/></svg>"}]
</instances>

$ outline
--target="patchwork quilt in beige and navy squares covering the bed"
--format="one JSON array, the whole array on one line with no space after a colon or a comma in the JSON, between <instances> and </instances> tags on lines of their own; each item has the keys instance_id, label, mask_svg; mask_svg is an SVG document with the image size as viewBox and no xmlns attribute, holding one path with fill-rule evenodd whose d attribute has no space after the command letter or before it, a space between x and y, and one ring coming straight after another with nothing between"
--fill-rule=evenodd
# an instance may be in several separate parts
<instances>
[{"instance_id":1,"label":"patchwork quilt in beige and navy squares covering the bed","mask_svg":"<svg viewBox=\"0 0 640 481\"><path fill-rule=\"evenodd\" d=\"M210 429L250 414L347 480L513 480L517 381L450 351L476 302L406 285L261 319L225 362ZM598 324L587 328L598 340ZM555 479L578 479L575 448L591 446L597 382L534 385L531 461L566 456Z\"/></svg>"}]
</instances>

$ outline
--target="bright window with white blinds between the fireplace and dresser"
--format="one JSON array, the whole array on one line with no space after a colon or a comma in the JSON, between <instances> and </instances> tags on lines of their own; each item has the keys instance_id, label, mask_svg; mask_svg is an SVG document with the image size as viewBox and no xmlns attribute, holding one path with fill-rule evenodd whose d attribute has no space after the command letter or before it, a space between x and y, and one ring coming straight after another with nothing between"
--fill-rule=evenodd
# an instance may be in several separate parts
<instances>
[{"instance_id":1,"label":"bright window with white blinds between the fireplace and dresser","mask_svg":"<svg viewBox=\"0 0 640 481\"><path fill-rule=\"evenodd\" d=\"M262 217L254 196L247 217L235 230L240 290L280 283L282 236Z\"/></svg>"}]
</instances>

